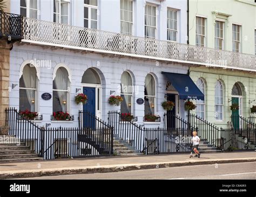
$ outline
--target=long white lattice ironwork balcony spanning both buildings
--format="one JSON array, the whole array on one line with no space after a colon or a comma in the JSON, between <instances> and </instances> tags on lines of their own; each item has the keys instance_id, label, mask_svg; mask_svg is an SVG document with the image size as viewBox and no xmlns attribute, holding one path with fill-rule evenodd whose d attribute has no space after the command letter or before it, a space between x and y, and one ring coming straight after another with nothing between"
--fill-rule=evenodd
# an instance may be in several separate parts
<instances>
[{"instance_id":1,"label":"long white lattice ironwork balcony spanning both buildings","mask_svg":"<svg viewBox=\"0 0 256 197\"><path fill-rule=\"evenodd\" d=\"M256 72L255 55L24 18L24 42Z\"/></svg>"}]
</instances>

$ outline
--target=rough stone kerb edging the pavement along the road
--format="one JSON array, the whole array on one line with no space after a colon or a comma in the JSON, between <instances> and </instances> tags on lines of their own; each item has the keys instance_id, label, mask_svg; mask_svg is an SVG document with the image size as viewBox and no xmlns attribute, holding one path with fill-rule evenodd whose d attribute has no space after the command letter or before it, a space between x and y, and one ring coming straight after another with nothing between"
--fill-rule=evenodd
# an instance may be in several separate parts
<instances>
[{"instance_id":1,"label":"rough stone kerb edging the pavement along the road","mask_svg":"<svg viewBox=\"0 0 256 197\"><path fill-rule=\"evenodd\" d=\"M26 171L26 170L3 171L3 172L0 172L0 179L56 176L60 174L69 175L69 174L123 172L123 171L147 170L147 169L166 168L166 167L244 163L244 162L255 162L255 161L256 161L256 158L234 158L234 159L212 159L212 160L203 160L203 158L197 158L197 159L191 159L189 161L171 161L171 162L141 163L141 164L119 164L119 165L88 166L88 167L70 167L70 168L66 167L66 168L53 168L53 169L29 170L29 171Z\"/></svg>"}]
</instances>

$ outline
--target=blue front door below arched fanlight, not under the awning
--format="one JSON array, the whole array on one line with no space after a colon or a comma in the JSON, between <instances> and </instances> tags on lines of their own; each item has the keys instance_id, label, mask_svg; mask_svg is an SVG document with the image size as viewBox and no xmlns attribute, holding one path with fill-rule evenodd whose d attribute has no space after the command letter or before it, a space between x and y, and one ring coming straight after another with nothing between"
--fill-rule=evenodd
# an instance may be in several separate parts
<instances>
[{"instance_id":1,"label":"blue front door below arched fanlight, not under the awning","mask_svg":"<svg viewBox=\"0 0 256 197\"><path fill-rule=\"evenodd\" d=\"M93 118L95 117L95 88L83 87L83 93L87 96L87 103L83 105L83 126L84 128L95 128L95 119Z\"/></svg>"}]
</instances>

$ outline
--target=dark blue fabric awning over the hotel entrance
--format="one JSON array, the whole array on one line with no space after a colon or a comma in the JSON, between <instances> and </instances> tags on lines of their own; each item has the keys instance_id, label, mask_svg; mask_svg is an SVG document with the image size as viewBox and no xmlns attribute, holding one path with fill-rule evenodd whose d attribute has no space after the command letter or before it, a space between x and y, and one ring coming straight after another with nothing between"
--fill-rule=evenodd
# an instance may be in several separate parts
<instances>
[{"instance_id":1,"label":"dark blue fabric awning over the hotel entrance","mask_svg":"<svg viewBox=\"0 0 256 197\"><path fill-rule=\"evenodd\" d=\"M204 101L204 94L192 81L189 75L166 72L162 72L162 74L166 76L172 86L177 90L181 100L197 99Z\"/></svg>"}]
</instances>

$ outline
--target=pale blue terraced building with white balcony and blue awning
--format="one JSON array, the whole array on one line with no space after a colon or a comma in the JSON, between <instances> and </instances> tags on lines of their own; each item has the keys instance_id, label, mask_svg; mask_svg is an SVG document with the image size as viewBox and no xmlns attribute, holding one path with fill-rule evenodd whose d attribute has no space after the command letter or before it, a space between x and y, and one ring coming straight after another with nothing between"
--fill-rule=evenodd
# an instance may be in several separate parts
<instances>
[{"instance_id":1,"label":"pale blue terraced building with white balcony and blue awning","mask_svg":"<svg viewBox=\"0 0 256 197\"><path fill-rule=\"evenodd\" d=\"M10 52L9 107L37 112L32 122L46 128L93 129L95 123L81 122L79 111L111 123L109 112L116 110L132 114L131 124L137 129L181 128L182 124L187 129L185 101L207 100L195 76L190 78L191 68L256 72L255 55L187 44L191 16L185 0L10 2L10 12L23 16L23 37ZM79 93L87 96L87 103L75 102ZM255 96L255 90L248 94ZM121 96L123 102L111 105L111 95ZM175 104L169 116L164 116L161 106L165 100ZM56 118L57 112L68 112L70 117Z\"/></svg>"}]
</instances>

